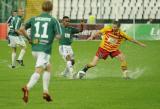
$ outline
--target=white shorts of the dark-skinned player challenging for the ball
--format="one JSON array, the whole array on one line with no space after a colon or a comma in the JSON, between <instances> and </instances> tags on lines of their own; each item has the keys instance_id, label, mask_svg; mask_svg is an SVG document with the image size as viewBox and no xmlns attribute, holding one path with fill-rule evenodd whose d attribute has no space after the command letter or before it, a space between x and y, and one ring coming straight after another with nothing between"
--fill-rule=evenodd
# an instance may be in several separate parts
<instances>
[{"instance_id":1,"label":"white shorts of the dark-skinned player challenging for the ball","mask_svg":"<svg viewBox=\"0 0 160 109\"><path fill-rule=\"evenodd\" d=\"M59 46L59 53L64 58L64 60L66 60L67 55L70 55L71 59L74 59L73 50L70 45L60 45Z\"/></svg>"}]
</instances>

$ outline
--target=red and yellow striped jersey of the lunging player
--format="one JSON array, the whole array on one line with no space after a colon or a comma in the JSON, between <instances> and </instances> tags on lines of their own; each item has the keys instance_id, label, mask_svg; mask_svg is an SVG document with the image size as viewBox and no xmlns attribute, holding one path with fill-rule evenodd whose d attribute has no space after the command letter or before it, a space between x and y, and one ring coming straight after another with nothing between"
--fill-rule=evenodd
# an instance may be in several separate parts
<instances>
[{"instance_id":1,"label":"red and yellow striped jersey of the lunging player","mask_svg":"<svg viewBox=\"0 0 160 109\"><path fill-rule=\"evenodd\" d=\"M104 27L100 32L103 35L100 47L109 52L116 51L124 40L132 40L121 30L114 33L111 26Z\"/></svg>"}]
</instances>

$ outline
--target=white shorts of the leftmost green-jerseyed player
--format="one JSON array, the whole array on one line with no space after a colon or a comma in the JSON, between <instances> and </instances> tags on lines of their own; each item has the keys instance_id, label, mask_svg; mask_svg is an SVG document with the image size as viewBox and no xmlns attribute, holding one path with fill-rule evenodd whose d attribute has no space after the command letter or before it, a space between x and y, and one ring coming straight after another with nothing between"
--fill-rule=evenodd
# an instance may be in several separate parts
<instances>
[{"instance_id":1,"label":"white shorts of the leftmost green-jerseyed player","mask_svg":"<svg viewBox=\"0 0 160 109\"><path fill-rule=\"evenodd\" d=\"M17 45L26 46L23 36L11 36L9 35L10 46L16 47Z\"/></svg>"}]
</instances>

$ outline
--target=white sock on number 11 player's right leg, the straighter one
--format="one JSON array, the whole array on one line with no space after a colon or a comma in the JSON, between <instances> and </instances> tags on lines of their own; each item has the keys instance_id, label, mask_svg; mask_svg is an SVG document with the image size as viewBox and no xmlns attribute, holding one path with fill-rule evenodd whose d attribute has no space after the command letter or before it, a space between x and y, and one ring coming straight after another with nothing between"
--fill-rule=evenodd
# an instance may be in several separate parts
<instances>
[{"instance_id":1,"label":"white sock on number 11 player's right leg, the straighter one","mask_svg":"<svg viewBox=\"0 0 160 109\"><path fill-rule=\"evenodd\" d=\"M43 73L43 92L48 93L48 86L51 74L47 71Z\"/></svg>"}]
</instances>

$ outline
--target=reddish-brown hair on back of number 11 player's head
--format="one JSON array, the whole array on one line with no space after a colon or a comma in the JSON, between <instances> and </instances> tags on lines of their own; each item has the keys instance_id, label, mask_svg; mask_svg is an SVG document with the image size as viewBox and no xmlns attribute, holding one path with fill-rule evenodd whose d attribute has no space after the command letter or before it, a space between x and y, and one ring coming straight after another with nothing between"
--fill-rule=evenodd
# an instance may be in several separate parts
<instances>
[{"instance_id":1,"label":"reddish-brown hair on back of number 11 player's head","mask_svg":"<svg viewBox=\"0 0 160 109\"><path fill-rule=\"evenodd\" d=\"M49 0L46 0L42 3L42 10L45 12L50 12L53 9L53 3Z\"/></svg>"}]
</instances>

